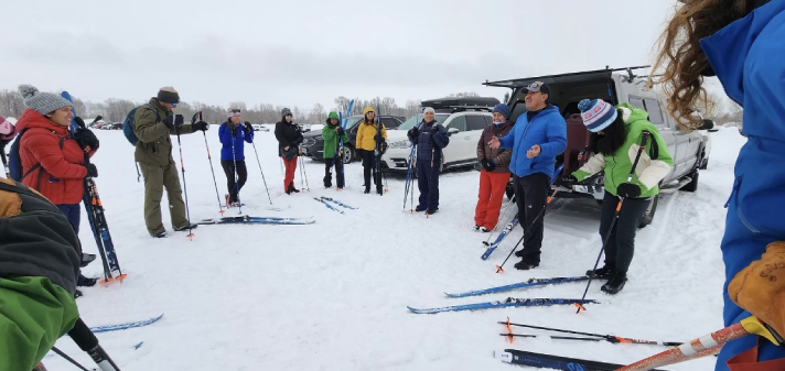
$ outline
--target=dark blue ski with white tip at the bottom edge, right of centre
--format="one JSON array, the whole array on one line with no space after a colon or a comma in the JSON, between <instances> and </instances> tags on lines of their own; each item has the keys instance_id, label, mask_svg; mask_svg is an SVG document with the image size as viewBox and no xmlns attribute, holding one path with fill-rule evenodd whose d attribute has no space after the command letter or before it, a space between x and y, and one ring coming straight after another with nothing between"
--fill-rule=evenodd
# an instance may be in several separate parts
<instances>
[{"instance_id":1,"label":"dark blue ski with white tip at the bottom edge, right of centre","mask_svg":"<svg viewBox=\"0 0 785 371\"><path fill-rule=\"evenodd\" d=\"M613 371L624 367L623 364L605 363L546 353L536 353L517 349L505 349L504 351L494 352L494 358L501 359L503 362L513 364L563 371Z\"/></svg>"}]
</instances>

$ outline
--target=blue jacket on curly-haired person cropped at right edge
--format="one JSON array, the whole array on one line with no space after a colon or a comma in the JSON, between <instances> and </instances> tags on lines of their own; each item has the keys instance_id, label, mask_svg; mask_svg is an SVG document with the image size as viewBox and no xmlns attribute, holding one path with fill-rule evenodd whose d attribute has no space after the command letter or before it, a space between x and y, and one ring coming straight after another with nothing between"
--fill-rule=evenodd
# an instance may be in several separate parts
<instances>
[{"instance_id":1,"label":"blue jacket on curly-haired person cropped at right edge","mask_svg":"<svg viewBox=\"0 0 785 371\"><path fill-rule=\"evenodd\" d=\"M785 0L773 0L716 34L701 40L728 96L744 108L744 134L735 182L728 199L722 260L725 263L723 318L727 326L750 316L728 297L728 283L766 244L785 240ZM727 343L717 361L725 371L729 358L755 346L748 336ZM785 348L762 341L759 360L785 357Z\"/></svg>"}]
</instances>

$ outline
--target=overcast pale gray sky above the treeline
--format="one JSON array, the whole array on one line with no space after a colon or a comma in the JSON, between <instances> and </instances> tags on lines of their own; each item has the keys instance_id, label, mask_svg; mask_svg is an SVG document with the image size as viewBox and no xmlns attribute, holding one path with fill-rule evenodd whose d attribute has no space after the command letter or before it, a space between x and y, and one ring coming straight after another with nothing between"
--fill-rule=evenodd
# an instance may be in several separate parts
<instances>
[{"instance_id":1,"label":"overcast pale gray sky above the treeline","mask_svg":"<svg viewBox=\"0 0 785 371\"><path fill-rule=\"evenodd\" d=\"M676 0L4 1L0 89L326 109L649 64Z\"/></svg>"}]
</instances>

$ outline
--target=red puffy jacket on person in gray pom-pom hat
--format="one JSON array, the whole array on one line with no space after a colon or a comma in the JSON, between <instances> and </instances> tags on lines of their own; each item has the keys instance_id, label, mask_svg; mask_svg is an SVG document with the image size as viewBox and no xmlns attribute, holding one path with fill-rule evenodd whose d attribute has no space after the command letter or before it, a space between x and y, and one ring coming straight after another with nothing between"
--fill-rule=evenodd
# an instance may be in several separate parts
<instances>
[{"instance_id":1,"label":"red puffy jacket on person in gray pom-pom hat","mask_svg":"<svg viewBox=\"0 0 785 371\"><path fill-rule=\"evenodd\" d=\"M29 129L22 137L19 157L22 174L35 164L41 166L28 174L22 184L35 188L52 204L78 204L84 194L87 168L82 164L85 154L71 138L67 127L61 127L32 109L25 109L17 122L17 130ZM63 140L63 148L60 142Z\"/></svg>"}]
</instances>

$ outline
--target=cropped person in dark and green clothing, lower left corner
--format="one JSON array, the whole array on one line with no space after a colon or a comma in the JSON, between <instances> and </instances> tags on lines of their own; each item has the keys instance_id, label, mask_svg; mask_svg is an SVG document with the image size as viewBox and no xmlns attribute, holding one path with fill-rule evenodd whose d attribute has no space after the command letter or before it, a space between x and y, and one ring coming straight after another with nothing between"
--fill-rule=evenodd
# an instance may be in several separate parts
<instances>
[{"instance_id":1,"label":"cropped person in dark and green clothing, lower left corner","mask_svg":"<svg viewBox=\"0 0 785 371\"><path fill-rule=\"evenodd\" d=\"M79 318L82 247L44 196L0 178L0 370L32 370Z\"/></svg>"}]
</instances>

